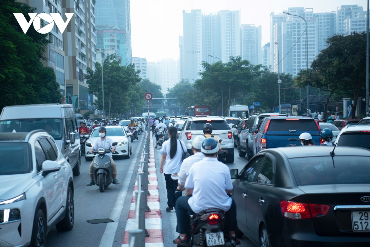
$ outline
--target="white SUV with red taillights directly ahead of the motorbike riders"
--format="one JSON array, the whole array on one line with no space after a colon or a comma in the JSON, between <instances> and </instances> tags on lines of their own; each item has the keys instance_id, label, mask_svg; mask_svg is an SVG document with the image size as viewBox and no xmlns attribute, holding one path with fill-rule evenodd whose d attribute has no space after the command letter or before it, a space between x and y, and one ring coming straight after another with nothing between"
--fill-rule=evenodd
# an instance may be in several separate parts
<instances>
[{"instance_id":1,"label":"white SUV with red taillights directly ahead of the motorbike riders","mask_svg":"<svg viewBox=\"0 0 370 247\"><path fill-rule=\"evenodd\" d=\"M230 126L224 118L219 117L189 117L179 134L179 139L185 143L186 149L192 153L191 143L196 135L203 135L203 125L211 124L213 127L212 135L217 139L222 139L221 151L218 156L226 158L226 162L234 162L234 137Z\"/></svg>"}]
</instances>

